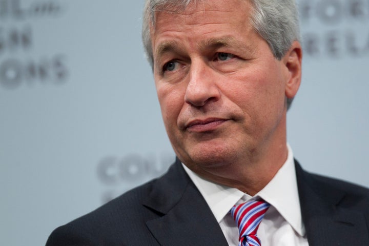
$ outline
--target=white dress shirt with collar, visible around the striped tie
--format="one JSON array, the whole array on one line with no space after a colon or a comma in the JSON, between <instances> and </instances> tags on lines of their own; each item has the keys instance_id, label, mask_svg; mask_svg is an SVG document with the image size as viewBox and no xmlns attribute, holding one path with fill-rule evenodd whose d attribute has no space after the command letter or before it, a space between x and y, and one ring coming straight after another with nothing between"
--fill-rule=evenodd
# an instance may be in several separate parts
<instances>
[{"instance_id":1,"label":"white dress shirt with collar, visible around the striped tie","mask_svg":"<svg viewBox=\"0 0 369 246\"><path fill-rule=\"evenodd\" d=\"M271 204L257 231L262 246L309 245L301 218L293 153L290 146L287 147L287 160L268 185L254 197L236 188L203 179L182 163L208 203L230 246L238 246L238 228L229 211L235 204L257 197Z\"/></svg>"}]
</instances>

